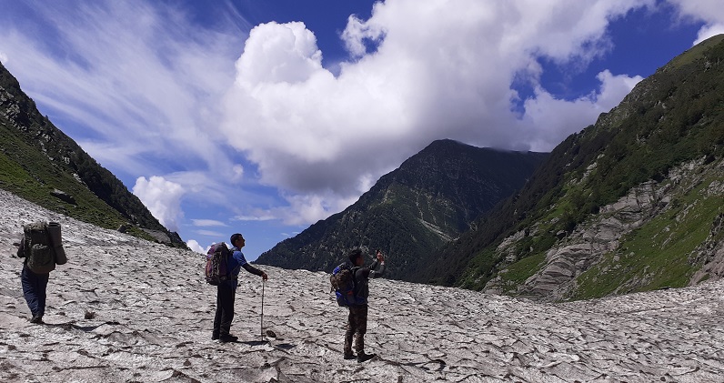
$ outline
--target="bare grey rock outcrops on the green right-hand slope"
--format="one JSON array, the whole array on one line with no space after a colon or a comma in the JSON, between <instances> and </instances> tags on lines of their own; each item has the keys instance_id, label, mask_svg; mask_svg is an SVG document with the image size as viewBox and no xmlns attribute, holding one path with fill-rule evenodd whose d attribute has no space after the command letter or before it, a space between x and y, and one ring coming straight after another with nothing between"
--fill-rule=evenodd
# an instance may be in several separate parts
<instances>
[{"instance_id":1,"label":"bare grey rock outcrops on the green right-hand slope","mask_svg":"<svg viewBox=\"0 0 724 383\"><path fill-rule=\"evenodd\" d=\"M558 244L548 250L544 264L532 277L518 287L518 295L540 297L544 300L558 301L569 297L577 288L576 278L598 263L607 254L620 251L620 238L627 236L640 227L648 225L669 208L669 202L699 186L704 179L724 176L724 160L705 164L704 158L683 164L669 172L669 176L660 181L649 181L631 189L627 196L617 202L601 207L598 215L578 225L567 237L558 240ZM713 181L705 189L706 196L724 198L721 181ZM696 203L696 202L694 202ZM683 208L687 210L686 207ZM679 217L684 219L684 217ZM517 233L508 237L498 246L498 252L513 254L523 237ZM689 262L693 267L703 267L694 277L692 284L706 278L718 279L724 276L724 243L722 243L721 219L712 223L711 233L705 243L700 245ZM508 263L516 259L510 258ZM697 266L698 265L698 266ZM486 290L497 291L501 278L488 282ZM632 286L636 281L629 282Z\"/></svg>"}]
</instances>

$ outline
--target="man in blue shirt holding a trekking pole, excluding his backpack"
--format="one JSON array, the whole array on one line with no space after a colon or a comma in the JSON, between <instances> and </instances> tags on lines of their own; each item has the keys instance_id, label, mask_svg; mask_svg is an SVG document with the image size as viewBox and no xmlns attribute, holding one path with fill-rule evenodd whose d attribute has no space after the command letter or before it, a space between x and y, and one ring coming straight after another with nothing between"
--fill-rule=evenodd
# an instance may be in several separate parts
<instances>
[{"instance_id":1,"label":"man in blue shirt holding a trekking pole, excluding his backpack","mask_svg":"<svg viewBox=\"0 0 724 383\"><path fill-rule=\"evenodd\" d=\"M231 277L216 286L216 316L214 317L214 332L211 334L211 339L218 340L221 343L236 342L238 340L238 337L230 334L230 330L231 322L234 320L236 287L238 287L238 275L241 268L243 267L247 272L262 277L264 281L267 278L264 271L246 262L246 257L241 252L241 248L246 244L244 237L236 233L231 236L230 241L233 247L231 248L231 257L228 257L227 260L227 269Z\"/></svg>"}]
</instances>

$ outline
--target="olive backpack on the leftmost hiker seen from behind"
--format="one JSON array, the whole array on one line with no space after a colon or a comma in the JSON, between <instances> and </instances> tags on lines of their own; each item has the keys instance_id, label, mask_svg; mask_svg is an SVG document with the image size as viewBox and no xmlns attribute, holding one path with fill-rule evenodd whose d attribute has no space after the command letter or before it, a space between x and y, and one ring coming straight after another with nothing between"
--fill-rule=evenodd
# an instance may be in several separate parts
<instances>
[{"instance_id":1,"label":"olive backpack on the leftmost hiker seen from behind","mask_svg":"<svg viewBox=\"0 0 724 383\"><path fill-rule=\"evenodd\" d=\"M35 274L48 274L55 270L55 251L48 235L46 222L38 221L23 226L23 252L25 265Z\"/></svg>"}]
</instances>

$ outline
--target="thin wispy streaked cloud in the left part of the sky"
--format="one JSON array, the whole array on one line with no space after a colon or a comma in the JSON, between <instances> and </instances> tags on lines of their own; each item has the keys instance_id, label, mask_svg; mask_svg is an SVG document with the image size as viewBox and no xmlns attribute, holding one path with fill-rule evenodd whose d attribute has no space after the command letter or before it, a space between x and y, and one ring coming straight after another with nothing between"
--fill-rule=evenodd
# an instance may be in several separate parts
<instances>
[{"instance_id":1,"label":"thin wispy streaked cloud in the left part of the sky","mask_svg":"<svg viewBox=\"0 0 724 383\"><path fill-rule=\"evenodd\" d=\"M68 133L91 156L136 176L180 165L235 173L224 151L209 150L224 141L218 106L245 38L235 25L220 33L176 8L137 0L51 2L35 12L56 35L34 40L10 29L2 36L13 52L6 61L44 74L23 78L24 88L51 117L73 122Z\"/></svg>"}]
</instances>

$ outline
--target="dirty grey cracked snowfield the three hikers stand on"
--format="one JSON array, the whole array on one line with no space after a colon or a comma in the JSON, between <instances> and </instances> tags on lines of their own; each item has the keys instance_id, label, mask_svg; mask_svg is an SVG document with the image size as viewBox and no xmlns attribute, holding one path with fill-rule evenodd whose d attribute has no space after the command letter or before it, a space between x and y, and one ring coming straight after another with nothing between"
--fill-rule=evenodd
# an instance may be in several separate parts
<instances>
[{"instance_id":1,"label":"dirty grey cracked snowfield the three hikers stand on","mask_svg":"<svg viewBox=\"0 0 724 383\"><path fill-rule=\"evenodd\" d=\"M45 325L28 323L11 257L36 219L61 223L69 259L51 275ZM377 279L366 339L379 356L357 364L342 358L346 313L324 273L245 274L240 341L213 342L204 262L0 190L0 381L724 382L724 281L540 304Z\"/></svg>"}]
</instances>

